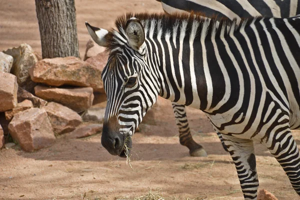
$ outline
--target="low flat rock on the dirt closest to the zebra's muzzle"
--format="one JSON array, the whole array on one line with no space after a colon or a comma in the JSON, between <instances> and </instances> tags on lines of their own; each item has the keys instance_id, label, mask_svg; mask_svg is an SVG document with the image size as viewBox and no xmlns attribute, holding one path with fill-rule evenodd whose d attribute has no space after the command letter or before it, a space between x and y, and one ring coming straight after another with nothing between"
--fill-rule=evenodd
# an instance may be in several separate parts
<instances>
[{"instance_id":1,"label":"low flat rock on the dirt closest to the zebra's muzzle","mask_svg":"<svg viewBox=\"0 0 300 200\"><path fill-rule=\"evenodd\" d=\"M81 127L76 128L72 132L67 133L66 138L82 138L87 137L102 131L102 124L82 124Z\"/></svg>"}]
</instances>

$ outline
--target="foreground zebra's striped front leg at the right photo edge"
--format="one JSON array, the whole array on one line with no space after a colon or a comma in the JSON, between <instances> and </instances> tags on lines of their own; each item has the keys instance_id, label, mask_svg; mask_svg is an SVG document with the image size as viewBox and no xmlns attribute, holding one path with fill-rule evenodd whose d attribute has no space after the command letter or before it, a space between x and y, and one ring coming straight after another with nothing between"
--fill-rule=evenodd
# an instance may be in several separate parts
<instances>
[{"instance_id":1,"label":"foreground zebra's striped front leg at the right photo edge","mask_svg":"<svg viewBox=\"0 0 300 200\"><path fill-rule=\"evenodd\" d=\"M273 134L272 139L263 143L284 169L289 181L300 196L300 155L297 144L288 129Z\"/></svg>"}]
</instances>

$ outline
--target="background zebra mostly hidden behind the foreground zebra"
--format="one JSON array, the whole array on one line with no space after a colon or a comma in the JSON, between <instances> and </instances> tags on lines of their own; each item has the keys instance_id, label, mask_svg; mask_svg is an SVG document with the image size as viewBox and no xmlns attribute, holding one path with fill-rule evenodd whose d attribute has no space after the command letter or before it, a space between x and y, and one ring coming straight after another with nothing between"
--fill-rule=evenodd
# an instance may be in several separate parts
<instances>
[{"instance_id":1,"label":"background zebra mostly hidden behind the foreground zebra","mask_svg":"<svg viewBox=\"0 0 300 200\"><path fill-rule=\"evenodd\" d=\"M240 20L243 17L267 16L267 17L289 17L300 14L300 1L297 0L157 0L161 2L163 10L167 14L173 12L197 11L205 14L207 17L216 16L218 18L227 17L230 20L236 18ZM185 106L172 102L173 113L176 125L179 129L180 144L189 148L191 156L206 156L207 153L200 144L197 144L191 134L188 126ZM224 150L227 151L223 138L219 132L216 132Z\"/></svg>"}]
</instances>

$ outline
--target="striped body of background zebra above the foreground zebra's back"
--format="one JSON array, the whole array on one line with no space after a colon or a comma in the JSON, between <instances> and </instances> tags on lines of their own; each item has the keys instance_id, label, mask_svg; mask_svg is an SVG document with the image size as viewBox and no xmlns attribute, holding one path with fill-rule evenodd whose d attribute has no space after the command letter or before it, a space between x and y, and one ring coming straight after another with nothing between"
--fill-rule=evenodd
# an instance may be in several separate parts
<instances>
[{"instance_id":1,"label":"striped body of background zebra above the foreground zebra's back","mask_svg":"<svg viewBox=\"0 0 300 200\"><path fill-rule=\"evenodd\" d=\"M298 0L158 0L167 13L202 12L207 17L289 17L300 13Z\"/></svg>"}]
</instances>

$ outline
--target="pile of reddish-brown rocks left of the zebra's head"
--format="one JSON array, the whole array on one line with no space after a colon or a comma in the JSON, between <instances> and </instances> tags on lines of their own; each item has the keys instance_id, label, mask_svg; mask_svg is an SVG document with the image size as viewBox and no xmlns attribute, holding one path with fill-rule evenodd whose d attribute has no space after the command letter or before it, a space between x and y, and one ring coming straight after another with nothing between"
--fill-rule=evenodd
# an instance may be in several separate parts
<instances>
[{"instance_id":1,"label":"pile of reddish-brown rocks left of the zebra's head","mask_svg":"<svg viewBox=\"0 0 300 200\"><path fill-rule=\"evenodd\" d=\"M0 52L0 148L8 132L25 151L49 146L59 134L80 138L100 132L105 108L92 106L106 100L101 72L107 55L98 54L103 50L89 41L87 61L41 59L28 44Z\"/></svg>"}]
</instances>

